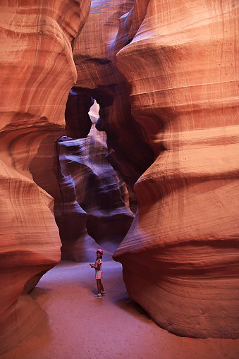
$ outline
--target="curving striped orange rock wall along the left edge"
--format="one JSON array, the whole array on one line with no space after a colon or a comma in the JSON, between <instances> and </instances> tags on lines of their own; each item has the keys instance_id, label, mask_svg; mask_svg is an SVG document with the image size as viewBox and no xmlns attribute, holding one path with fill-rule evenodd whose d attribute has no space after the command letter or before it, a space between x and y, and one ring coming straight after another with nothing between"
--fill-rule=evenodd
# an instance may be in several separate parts
<instances>
[{"instance_id":1,"label":"curving striped orange rock wall along the left edge","mask_svg":"<svg viewBox=\"0 0 239 359\"><path fill-rule=\"evenodd\" d=\"M53 199L29 168L41 142L62 134L77 75L71 41L89 10L85 0L1 1L1 353L48 323L27 292L59 262L61 241Z\"/></svg>"}]
</instances>

